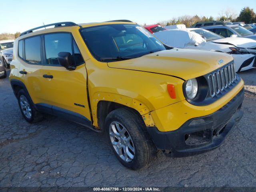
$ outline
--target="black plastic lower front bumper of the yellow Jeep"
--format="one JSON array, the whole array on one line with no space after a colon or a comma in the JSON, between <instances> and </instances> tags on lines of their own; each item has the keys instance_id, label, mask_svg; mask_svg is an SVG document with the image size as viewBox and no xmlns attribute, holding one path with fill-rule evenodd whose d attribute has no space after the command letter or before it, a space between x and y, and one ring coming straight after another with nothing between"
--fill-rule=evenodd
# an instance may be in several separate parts
<instances>
[{"instance_id":1,"label":"black plastic lower front bumper of the yellow Jeep","mask_svg":"<svg viewBox=\"0 0 256 192\"><path fill-rule=\"evenodd\" d=\"M244 88L216 112L186 121L180 128L160 132L147 127L154 144L172 157L184 157L214 150L226 138L232 127L243 115Z\"/></svg>"}]
</instances>

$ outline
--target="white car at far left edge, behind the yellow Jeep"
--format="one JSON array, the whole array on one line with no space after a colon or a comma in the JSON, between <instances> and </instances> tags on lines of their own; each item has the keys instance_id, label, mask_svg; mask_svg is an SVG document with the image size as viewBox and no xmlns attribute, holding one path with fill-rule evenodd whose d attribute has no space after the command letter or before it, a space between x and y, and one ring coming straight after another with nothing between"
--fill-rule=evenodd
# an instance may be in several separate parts
<instances>
[{"instance_id":1,"label":"white car at far left edge, behind the yellow Jeep","mask_svg":"<svg viewBox=\"0 0 256 192\"><path fill-rule=\"evenodd\" d=\"M6 68L8 68L12 62L13 42L14 40L0 41L0 58Z\"/></svg>"}]
</instances>

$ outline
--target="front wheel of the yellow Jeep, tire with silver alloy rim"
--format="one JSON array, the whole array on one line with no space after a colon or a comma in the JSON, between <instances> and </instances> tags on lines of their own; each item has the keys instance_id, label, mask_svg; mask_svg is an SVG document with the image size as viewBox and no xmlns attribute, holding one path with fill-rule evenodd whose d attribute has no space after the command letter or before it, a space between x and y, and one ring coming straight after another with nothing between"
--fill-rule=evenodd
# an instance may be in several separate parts
<instances>
[{"instance_id":1,"label":"front wheel of the yellow Jeep, tire with silver alloy rim","mask_svg":"<svg viewBox=\"0 0 256 192\"><path fill-rule=\"evenodd\" d=\"M114 154L127 168L132 170L144 168L156 156L156 147L146 130L146 125L135 110L130 108L113 110L106 117L105 129Z\"/></svg>"}]
</instances>

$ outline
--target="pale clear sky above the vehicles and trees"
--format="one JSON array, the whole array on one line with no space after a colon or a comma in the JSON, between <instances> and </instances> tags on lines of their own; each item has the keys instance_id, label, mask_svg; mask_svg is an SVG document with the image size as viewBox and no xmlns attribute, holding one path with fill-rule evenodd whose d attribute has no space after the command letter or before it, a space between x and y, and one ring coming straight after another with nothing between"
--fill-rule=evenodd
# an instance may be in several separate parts
<instances>
[{"instance_id":1,"label":"pale clear sky above the vehicles and trees","mask_svg":"<svg viewBox=\"0 0 256 192\"><path fill-rule=\"evenodd\" d=\"M256 0L0 0L0 33L23 32L54 22L101 22L128 19L154 24L183 15L220 16L226 8L236 14Z\"/></svg>"}]
</instances>

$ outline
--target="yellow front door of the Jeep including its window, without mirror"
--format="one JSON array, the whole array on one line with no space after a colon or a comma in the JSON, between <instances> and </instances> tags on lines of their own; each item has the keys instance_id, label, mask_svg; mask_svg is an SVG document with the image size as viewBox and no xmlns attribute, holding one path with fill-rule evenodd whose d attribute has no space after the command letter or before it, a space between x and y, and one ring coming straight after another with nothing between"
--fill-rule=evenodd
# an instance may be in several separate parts
<instances>
[{"instance_id":1,"label":"yellow front door of the Jeep including its window, without mirror","mask_svg":"<svg viewBox=\"0 0 256 192\"><path fill-rule=\"evenodd\" d=\"M91 120L85 62L72 34L68 32L44 34L43 48L45 65L42 67L44 84L42 95L44 103L51 105L53 112L57 115L70 114L68 118L77 116ZM57 58L59 52L72 54L76 65L75 70L67 70L60 66Z\"/></svg>"}]
</instances>

